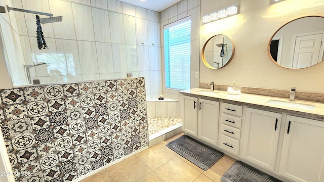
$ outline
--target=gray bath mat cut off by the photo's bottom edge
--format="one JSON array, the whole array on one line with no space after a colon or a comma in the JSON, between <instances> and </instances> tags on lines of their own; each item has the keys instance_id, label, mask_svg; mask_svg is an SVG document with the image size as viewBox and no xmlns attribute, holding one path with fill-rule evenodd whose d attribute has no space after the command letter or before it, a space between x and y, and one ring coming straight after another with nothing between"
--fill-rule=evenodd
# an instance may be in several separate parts
<instances>
[{"instance_id":1,"label":"gray bath mat cut off by the photo's bottom edge","mask_svg":"<svg viewBox=\"0 0 324 182\"><path fill-rule=\"evenodd\" d=\"M279 182L280 180L245 164L236 161L221 177L221 182Z\"/></svg>"}]
</instances>

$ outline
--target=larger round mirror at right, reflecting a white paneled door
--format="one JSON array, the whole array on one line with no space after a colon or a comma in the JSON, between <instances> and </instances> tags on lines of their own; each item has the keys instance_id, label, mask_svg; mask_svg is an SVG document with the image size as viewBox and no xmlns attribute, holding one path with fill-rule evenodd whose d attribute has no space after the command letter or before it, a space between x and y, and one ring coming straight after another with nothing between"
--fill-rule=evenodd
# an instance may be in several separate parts
<instances>
[{"instance_id":1,"label":"larger round mirror at right, reflecting a white paneled door","mask_svg":"<svg viewBox=\"0 0 324 182\"><path fill-rule=\"evenodd\" d=\"M268 43L268 55L277 65L300 69L324 59L324 17L307 16L280 27Z\"/></svg>"}]
</instances>

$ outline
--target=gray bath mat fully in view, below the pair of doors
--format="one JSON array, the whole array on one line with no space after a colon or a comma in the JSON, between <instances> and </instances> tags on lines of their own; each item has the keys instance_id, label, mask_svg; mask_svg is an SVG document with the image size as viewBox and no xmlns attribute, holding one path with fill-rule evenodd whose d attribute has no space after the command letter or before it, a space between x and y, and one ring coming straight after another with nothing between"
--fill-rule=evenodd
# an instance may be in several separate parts
<instances>
[{"instance_id":1,"label":"gray bath mat fully in view, below the pair of doors","mask_svg":"<svg viewBox=\"0 0 324 182\"><path fill-rule=\"evenodd\" d=\"M167 147L204 170L209 169L224 155L187 135L182 135L178 139L168 143Z\"/></svg>"}]
</instances>

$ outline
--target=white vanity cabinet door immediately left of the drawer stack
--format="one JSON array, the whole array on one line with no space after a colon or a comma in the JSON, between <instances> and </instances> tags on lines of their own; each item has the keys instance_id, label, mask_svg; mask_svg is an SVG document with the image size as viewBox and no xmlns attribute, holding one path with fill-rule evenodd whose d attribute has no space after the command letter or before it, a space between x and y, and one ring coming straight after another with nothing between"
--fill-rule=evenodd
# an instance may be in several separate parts
<instances>
[{"instance_id":1,"label":"white vanity cabinet door immediately left of the drawer stack","mask_svg":"<svg viewBox=\"0 0 324 182\"><path fill-rule=\"evenodd\" d=\"M198 138L217 145L219 102L199 99Z\"/></svg>"}]
</instances>

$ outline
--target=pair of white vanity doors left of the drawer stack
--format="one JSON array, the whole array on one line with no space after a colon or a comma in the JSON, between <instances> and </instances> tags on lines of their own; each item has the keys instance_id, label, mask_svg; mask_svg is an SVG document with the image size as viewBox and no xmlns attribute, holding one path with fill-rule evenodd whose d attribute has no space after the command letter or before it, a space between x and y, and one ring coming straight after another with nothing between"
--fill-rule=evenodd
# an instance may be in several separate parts
<instances>
[{"instance_id":1,"label":"pair of white vanity doors left of the drawer stack","mask_svg":"<svg viewBox=\"0 0 324 182\"><path fill-rule=\"evenodd\" d=\"M217 146L219 102L183 96L183 131Z\"/></svg>"}]
</instances>

